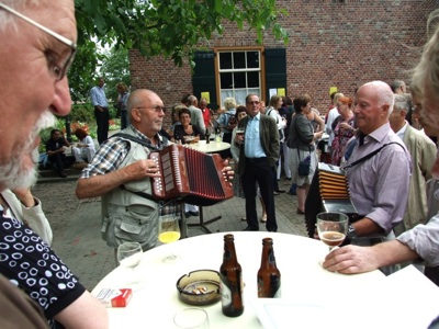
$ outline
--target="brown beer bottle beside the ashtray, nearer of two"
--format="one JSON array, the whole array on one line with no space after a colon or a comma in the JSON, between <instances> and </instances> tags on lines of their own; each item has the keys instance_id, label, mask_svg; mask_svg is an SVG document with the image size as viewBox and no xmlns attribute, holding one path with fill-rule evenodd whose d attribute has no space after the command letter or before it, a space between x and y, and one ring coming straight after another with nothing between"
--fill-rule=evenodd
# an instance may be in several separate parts
<instances>
[{"instance_id":1,"label":"brown beer bottle beside the ashtray, nearer of two","mask_svg":"<svg viewBox=\"0 0 439 329\"><path fill-rule=\"evenodd\" d=\"M233 235L224 236L224 257L219 268L221 303L223 314L238 317L244 313L243 271L235 252Z\"/></svg>"}]
</instances>

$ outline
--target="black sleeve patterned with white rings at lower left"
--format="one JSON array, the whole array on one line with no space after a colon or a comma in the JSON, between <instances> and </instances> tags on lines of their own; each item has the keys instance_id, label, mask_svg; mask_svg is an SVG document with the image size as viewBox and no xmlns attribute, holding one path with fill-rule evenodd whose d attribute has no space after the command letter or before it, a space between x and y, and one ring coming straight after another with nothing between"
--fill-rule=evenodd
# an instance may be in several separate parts
<instances>
[{"instance_id":1,"label":"black sleeve patterned with white rings at lower left","mask_svg":"<svg viewBox=\"0 0 439 329\"><path fill-rule=\"evenodd\" d=\"M86 291L50 247L1 206L0 273L31 296L52 324Z\"/></svg>"}]
</instances>

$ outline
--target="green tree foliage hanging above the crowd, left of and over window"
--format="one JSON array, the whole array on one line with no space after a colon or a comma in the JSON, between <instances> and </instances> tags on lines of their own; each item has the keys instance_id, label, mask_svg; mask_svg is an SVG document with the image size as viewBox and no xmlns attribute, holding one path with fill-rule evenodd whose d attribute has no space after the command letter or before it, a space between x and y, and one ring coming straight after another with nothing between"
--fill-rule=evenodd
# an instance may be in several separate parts
<instances>
[{"instance_id":1,"label":"green tree foliage hanging above the crowd, left of and over window","mask_svg":"<svg viewBox=\"0 0 439 329\"><path fill-rule=\"evenodd\" d=\"M98 75L105 78L108 99L115 101L115 84L122 81L131 86L131 48L139 49L145 57L164 55L178 66L184 59L193 66L193 52L200 42L223 33L223 20L235 22L239 29L254 29L259 44L268 30L288 42L278 22L288 12L278 9L275 0L75 0L75 10L78 53L68 72L75 103L90 100ZM112 48L101 54L97 43Z\"/></svg>"}]
</instances>

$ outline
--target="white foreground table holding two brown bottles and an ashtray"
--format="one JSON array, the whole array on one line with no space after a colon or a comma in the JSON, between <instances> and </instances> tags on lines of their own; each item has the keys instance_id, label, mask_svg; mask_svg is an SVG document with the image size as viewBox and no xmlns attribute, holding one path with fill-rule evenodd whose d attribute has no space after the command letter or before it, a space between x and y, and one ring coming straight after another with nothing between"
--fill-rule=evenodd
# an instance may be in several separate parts
<instances>
[{"instance_id":1,"label":"white foreground table holding two brown bottles and an ashtray","mask_svg":"<svg viewBox=\"0 0 439 329\"><path fill-rule=\"evenodd\" d=\"M274 304L284 303L286 307L291 308L286 315L290 321L286 320L285 326L278 328L293 328L291 322L299 317L299 315L294 315L294 310L296 310L292 307L294 304L318 306L320 311L325 310L329 317L325 328L406 328L405 326L382 327L380 324L383 321L382 317L387 318L390 324L398 324L398 317L419 316L419 313L405 311L401 314L397 313L397 309L392 309L392 305L403 305L403 303L407 304L409 309L410 300L402 298L403 292L399 295L396 294L397 300L392 298L396 288L387 281L391 276L385 277L380 271L344 275L322 269L318 261L327 253L327 247L318 240L262 231L233 234L246 284L244 290L245 311L240 317L228 318L222 313L221 302L204 306L211 320L211 329L262 328L257 313L251 306L258 305L261 300ZM178 298L177 280L194 270L219 270L223 261L224 235L225 232L221 232L182 239L145 252L139 270L144 273L146 285L143 290L134 292L126 308L109 308L111 328L173 328L173 315L182 308L191 307ZM260 266L262 238L264 237L273 238L274 254L282 275L281 299L256 298L256 277ZM181 259L172 264L162 263L161 259L171 251L179 254ZM124 281L128 280L125 274L125 269L115 269L97 285L92 293L95 295L102 287L124 287ZM402 281L405 282L404 288L409 288L410 285L416 288L420 286L416 285L416 282L420 282L417 276L413 281L410 279ZM423 283L425 282L423 281ZM430 285L434 286L431 283ZM430 285L427 284L428 288L434 296L437 296ZM423 293L424 291L417 292ZM434 307L437 305L425 297L419 297L410 303L416 303L417 308L421 308L424 307L423 300L431 303ZM401 303L396 304L397 302ZM437 309L439 313L439 307ZM316 322L318 316L319 314L315 314L308 322L295 328L315 328L313 324ZM338 320L334 321L334 319ZM352 321L354 322L352 324ZM410 328L416 327L412 326Z\"/></svg>"}]
</instances>

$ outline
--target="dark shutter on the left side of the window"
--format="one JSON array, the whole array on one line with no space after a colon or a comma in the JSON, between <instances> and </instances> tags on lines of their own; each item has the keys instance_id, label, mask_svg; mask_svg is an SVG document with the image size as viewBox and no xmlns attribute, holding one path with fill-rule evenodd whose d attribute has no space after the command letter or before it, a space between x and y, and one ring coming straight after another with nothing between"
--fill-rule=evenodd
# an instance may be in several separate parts
<instances>
[{"instance_id":1,"label":"dark shutter on the left side of the window","mask_svg":"<svg viewBox=\"0 0 439 329\"><path fill-rule=\"evenodd\" d=\"M215 87L215 54L209 52L195 52L194 54L195 68L192 76L193 94L199 99L201 93L207 91L211 97L211 103L207 106L212 110L218 109L216 103L216 87Z\"/></svg>"}]
</instances>

